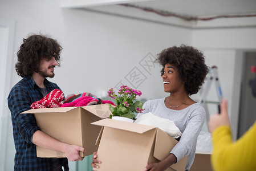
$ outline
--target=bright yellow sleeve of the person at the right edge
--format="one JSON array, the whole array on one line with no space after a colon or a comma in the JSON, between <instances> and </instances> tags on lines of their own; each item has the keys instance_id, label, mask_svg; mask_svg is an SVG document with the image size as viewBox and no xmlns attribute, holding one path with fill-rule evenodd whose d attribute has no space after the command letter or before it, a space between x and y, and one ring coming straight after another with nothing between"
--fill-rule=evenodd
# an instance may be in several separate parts
<instances>
[{"instance_id":1,"label":"bright yellow sleeve of the person at the right edge","mask_svg":"<svg viewBox=\"0 0 256 171\"><path fill-rule=\"evenodd\" d=\"M217 128L212 139L214 170L256 170L256 123L235 142L232 142L230 128L226 126Z\"/></svg>"}]
</instances>

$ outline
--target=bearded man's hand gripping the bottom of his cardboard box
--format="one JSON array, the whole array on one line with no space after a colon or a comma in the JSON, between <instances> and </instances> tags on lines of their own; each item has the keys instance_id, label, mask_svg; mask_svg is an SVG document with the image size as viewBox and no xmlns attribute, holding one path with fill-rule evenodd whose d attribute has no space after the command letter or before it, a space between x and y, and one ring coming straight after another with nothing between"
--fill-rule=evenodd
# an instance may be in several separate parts
<instances>
[{"instance_id":1,"label":"bearded man's hand gripping the bottom of his cardboard box","mask_svg":"<svg viewBox=\"0 0 256 171\"><path fill-rule=\"evenodd\" d=\"M82 146L67 144L64 153L69 161L82 161L84 157L80 157L79 151L86 152L86 149Z\"/></svg>"}]
</instances>

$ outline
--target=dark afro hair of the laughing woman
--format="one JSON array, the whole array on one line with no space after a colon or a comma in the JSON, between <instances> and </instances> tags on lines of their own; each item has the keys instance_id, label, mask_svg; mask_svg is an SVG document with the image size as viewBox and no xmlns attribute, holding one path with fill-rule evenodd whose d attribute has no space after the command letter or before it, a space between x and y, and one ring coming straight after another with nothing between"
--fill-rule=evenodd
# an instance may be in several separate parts
<instances>
[{"instance_id":1,"label":"dark afro hair of the laughing woman","mask_svg":"<svg viewBox=\"0 0 256 171\"><path fill-rule=\"evenodd\" d=\"M188 95L196 94L205 81L209 72L205 64L205 56L194 47L181 44L180 47L173 46L162 50L157 55L157 62L163 67L161 76L164 74L166 63L173 64L178 68L180 79L185 83Z\"/></svg>"}]
</instances>

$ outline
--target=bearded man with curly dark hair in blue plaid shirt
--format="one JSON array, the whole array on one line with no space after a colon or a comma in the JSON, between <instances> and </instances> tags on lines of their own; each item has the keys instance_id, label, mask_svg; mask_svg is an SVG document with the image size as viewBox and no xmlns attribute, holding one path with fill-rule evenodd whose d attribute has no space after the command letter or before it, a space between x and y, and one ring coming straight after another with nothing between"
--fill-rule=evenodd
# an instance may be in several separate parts
<instances>
[{"instance_id":1,"label":"bearded man with curly dark hair in blue plaid shirt","mask_svg":"<svg viewBox=\"0 0 256 171\"><path fill-rule=\"evenodd\" d=\"M85 152L83 147L53 139L40 131L33 114L21 114L53 89L60 89L46 78L54 77L55 66L60 66L61 51L62 47L55 39L32 34L23 39L17 52L15 70L23 79L15 84L8 96L16 149L14 170L62 170L62 167L68 170L67 159L83 160L79 156L79 151ZM67 158L38 158L36 145L64 152Z\"/></svg>"}]
</instances>

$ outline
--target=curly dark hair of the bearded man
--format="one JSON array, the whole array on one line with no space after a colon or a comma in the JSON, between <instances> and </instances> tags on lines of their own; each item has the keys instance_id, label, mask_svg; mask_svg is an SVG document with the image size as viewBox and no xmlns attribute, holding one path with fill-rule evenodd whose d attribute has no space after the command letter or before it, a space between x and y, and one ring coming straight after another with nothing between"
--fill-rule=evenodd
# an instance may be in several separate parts
<instances>
[{"instance_id":1,"label":"curly dark hair of the bearded man","mask_svg":"<svg viewBox=\"0 0 256 171\"><path fill-rule=\"evenodd\" d=\"M40 70L42 59L51 60L52 56L60 66L61 51L62 47L55 39L45 35L30 35L23 39L23 44L17 52L18 62L15 64L15 70L22 78L31 76L33 72Z\"/></svg>"}]
</instances>

